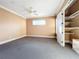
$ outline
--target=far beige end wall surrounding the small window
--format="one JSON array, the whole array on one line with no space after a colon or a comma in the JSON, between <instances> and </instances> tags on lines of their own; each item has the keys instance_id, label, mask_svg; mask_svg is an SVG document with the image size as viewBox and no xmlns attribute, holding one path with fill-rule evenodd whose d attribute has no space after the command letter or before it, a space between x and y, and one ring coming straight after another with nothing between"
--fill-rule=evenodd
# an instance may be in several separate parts
<instances>
[{"instance_id":1,"label":"far beige end wall surrounding the small window","mask_svg":"<svg viewBox=\"0 0 79 59\"><path fill-rule=\"evenodd\" d=\"M55 17L44 18L46 25L34 26L32 20L27 20L27 34L28 35L39 35L39 36L54 36L55 35Z\"/></svg>"}]
</instances>

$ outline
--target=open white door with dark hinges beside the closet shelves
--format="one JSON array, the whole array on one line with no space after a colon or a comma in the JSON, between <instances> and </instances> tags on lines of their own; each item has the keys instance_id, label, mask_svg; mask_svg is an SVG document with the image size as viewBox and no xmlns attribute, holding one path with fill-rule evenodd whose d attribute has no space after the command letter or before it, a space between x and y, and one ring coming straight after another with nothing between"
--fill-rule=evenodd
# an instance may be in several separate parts
<instances>
[{"instance_id":1,"label":"open white door with dark hinges beside the closet shelves","mask_svg":"<svg viewBox=\"0 0 79 59\"><path fill-rule=\"evenodd\" d=\"M64 12L61 11L56 18L56 34L57 34L57 42L61 46L65 46L65 35L64 35Z\"/></svg>"}]
</instances>

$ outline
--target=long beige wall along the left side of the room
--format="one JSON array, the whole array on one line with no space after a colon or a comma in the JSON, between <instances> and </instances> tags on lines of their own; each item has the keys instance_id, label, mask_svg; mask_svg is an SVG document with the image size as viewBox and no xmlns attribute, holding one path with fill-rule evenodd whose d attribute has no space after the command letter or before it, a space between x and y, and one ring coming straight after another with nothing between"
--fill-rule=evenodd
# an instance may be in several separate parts
<instances>
[{"instance_id":1,"label":"long beige wall along the left side of the room","mask_svg":"<svg viewBox=\"0 0 79 59\"><path fill-rule=\"evenodd\" d=\"M0 8L0 41L26 35L26 20Z\"/></svg>"}]
</instances>

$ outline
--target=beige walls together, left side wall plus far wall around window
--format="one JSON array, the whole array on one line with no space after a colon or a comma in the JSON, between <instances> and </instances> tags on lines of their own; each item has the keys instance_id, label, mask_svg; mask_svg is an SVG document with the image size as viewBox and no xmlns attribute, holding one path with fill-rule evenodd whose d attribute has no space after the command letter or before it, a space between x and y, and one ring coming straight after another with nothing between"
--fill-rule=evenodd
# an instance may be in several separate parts
<instances>
[{"instance_id":1,"label":"beige walls together, left side wall plus far wall around window","mask_svg":"<svg viewBox=\"0 0 79 59\"><path fill-rule=\"evenodd\" d=\"M0 42L26 35L55 37L55 17L46 17L46 25L33 26L33 19L23 19L0 8Z\"/></svg>"}]
</instances>

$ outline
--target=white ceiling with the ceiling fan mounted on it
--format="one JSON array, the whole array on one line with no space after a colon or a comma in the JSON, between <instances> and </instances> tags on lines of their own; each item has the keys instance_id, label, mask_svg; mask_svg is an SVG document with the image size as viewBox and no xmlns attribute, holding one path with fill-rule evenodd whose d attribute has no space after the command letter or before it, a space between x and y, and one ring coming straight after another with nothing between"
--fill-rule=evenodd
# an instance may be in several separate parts
<instances>
[{"instance_id":1,"label":"white ceiling with the ceiling fan mounted on it","mask_svg":"<svg viewBox=\"0 0 79 59\"><path fill-rule=\"evenodd\" d=\"M24 18L55 16L65 0L0 0L0 5ZM30 10L30 11L28 11ZM33 13L31 13L33 11Z\"/></svg>"}]
</instances>

